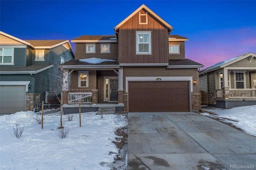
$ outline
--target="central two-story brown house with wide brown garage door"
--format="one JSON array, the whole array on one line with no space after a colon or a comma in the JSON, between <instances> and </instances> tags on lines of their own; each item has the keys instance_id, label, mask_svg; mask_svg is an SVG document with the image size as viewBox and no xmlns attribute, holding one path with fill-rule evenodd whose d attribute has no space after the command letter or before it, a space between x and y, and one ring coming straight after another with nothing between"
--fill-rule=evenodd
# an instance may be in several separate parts
<instances>
[{"instance_id":1,"label":"central two-story brown house with wide brown garage door","mask_svg":"<svg viewBox=\"0 0 256 170\"><path fill-rule=\"evenodd\" d=\"M79 99L82 111L199 111L203 65L185 58L188 38L172 30L143 4L115 35L71 40L76 53L64 63L71 75L64 113L78 113Z\"/></svg>"}]
</instances>

